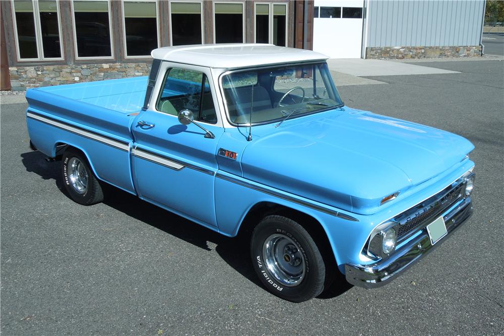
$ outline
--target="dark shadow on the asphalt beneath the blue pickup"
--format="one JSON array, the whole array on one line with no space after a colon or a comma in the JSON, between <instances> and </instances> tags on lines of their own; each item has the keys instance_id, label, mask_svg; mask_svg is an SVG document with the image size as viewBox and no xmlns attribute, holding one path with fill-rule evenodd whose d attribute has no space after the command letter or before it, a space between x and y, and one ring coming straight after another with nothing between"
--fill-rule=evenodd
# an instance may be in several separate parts
<instances>
[{"instance_id":1,"label":"dark shadow on the asphalt beneath the blue pickup","mask_svg":"<svg viewBox=\"0 0 504 336\"><path fill-rule=\"evenodd\" d=\"M45 155L38 151L23 153L21 158L28 172L33 172L44 180L55 180L57 188L69 198L69 201L72 201L61 181L60 161L48 162L45 160ZM248 237L229 238L223 236L108 184L104 186L104 193L106 197L103 204L194 246L207 251L215 249L219 256L235 271L264 289L251 265ZM214 245L215 247L213 247ZM341 274L335 278L333 285L318 298L331 299L352 287Z\"/></svg>"}]
</instances>

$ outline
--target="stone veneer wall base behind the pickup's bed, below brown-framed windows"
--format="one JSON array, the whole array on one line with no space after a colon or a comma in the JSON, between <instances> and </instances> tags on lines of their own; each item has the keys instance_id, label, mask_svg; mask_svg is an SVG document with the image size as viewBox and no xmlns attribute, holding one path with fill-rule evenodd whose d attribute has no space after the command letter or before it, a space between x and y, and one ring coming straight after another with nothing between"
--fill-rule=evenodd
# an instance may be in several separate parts
<instances>
[{"instance_id":1,"label":"stone veneer wall base behind the pickup's bed, below brown-framed windows","mask_svg":"<svg viewBox=\"0 0 504 336\"><path fill-rule=\"evenodd\" d=\"M9 68L12 91L93 82L105 79L148 76L151 63L36 65Z\"/></svg>"}]
</instances>

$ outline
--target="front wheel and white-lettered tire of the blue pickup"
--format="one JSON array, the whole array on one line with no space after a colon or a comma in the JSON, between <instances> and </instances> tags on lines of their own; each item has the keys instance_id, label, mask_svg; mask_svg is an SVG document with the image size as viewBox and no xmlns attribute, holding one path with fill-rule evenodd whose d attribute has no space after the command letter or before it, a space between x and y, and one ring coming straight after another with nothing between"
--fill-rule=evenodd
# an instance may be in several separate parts
<instances>
[{"instance_id":1,"label":"front wheel and white-lettered tire of the blue pickup","mask_svg":"<svg viewBox=\"0 0 504 336\"><path fill-rule=\"evenodd\" d=\"M264 286L276 296L302 302L324 290L326 266L309 233L282 216L268 216L255 228L250 254Z\"/></svg>"}]
</instances>

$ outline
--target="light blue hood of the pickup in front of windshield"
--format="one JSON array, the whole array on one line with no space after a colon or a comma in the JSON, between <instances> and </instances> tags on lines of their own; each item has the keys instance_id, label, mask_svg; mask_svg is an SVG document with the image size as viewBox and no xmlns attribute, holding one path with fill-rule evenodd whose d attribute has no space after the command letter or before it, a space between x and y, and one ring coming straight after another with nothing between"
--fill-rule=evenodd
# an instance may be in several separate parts
<instances>
[{"instance_id":1,"label":"light blue hood of the pickup in front of windshield","mask_svg":"<svg viewBox=\"0 0 504 336\"><path fill-rule=\"evenodd\" d=\"M245 178L360 214L474 148L447 131L350 108L258 128L242 154Z\"/></svg>"}]
</instances>

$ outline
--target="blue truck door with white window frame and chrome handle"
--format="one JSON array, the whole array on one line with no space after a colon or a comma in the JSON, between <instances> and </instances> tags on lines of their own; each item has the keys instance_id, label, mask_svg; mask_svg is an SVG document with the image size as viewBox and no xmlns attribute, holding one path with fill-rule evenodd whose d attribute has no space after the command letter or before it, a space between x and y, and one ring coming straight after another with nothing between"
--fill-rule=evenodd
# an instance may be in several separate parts
<instances>
[{"instance_id":1,"label":"blue truck door with white window frame and chrome handle","mask_svg":"<svg viewBox=\"0 0 504 336\"><path fill-rule=\"evenodd\" d=\"M161 67L157 80L162 85L159 94L153 93L157 98L132 124L134 180L141 198L200 224L216 226L216 153L224 129L217 124L210 73L195 68ZM205 131L193 123L180 124L177 115L185 109L215 138L206 138Z\"/></svg>"}]
</instances>

